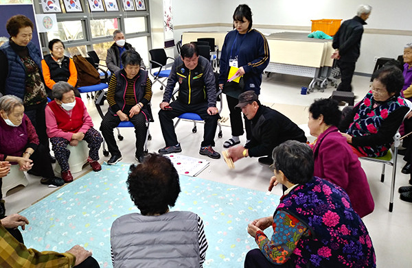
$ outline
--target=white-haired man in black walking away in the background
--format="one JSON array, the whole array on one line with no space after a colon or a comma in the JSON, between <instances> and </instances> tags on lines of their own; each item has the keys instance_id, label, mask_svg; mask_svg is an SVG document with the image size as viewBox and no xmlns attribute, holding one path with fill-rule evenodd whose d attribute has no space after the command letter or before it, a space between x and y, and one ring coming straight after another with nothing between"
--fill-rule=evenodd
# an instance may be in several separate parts
<instances>
[{"instance_id":1,"label":"white-haired man in black walking away in the background","mask_svg":"<svg viewBox=\"0 0 412 268\"><path fill-rule=\"evenodd\" d=\"M356 60L361 53L363 25L366 24L365 21L369 18L371 10L370 5L360 5L357 16L344 21L333 37L332 47L336 51L331 58L338 60L341 69L341 84L337 88L339 91L352 91L352 76Z\"/></svg>"}]
</instances>

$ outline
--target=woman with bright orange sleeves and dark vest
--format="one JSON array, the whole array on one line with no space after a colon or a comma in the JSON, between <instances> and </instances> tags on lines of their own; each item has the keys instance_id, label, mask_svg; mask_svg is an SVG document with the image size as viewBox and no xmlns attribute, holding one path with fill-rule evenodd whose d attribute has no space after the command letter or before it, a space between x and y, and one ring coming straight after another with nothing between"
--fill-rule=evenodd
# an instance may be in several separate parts
<instances>
[{"instance_id":1,"label":"woman with bright orange sleeves and dark vest","mask_svg":"<svg viewBox=\"0 0 412 268\"><path fill-rule=\"evenodd\" d=\"M53 99L52 88L54 84L60 81L67 82L74 87L76 97L80 93L76 88L77 70L71 58L65 56L65 45L59 39L53 39L49 42L50 54L46 55L41 61L43 68L43 78L47 86L47 95Z\"/></svg>"}]
</instances>

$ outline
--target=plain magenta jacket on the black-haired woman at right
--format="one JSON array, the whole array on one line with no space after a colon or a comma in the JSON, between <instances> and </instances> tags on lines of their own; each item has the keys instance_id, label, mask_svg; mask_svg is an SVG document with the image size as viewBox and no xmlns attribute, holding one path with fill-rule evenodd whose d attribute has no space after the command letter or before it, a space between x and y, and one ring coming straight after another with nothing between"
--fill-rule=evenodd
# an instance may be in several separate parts
<instances>
[{"instance_id":1,"label":"plain magenta jacket on the black-haired woman at right","mask_svg":"<svg viewBox=\"0 0 412 268\"><path fill-rule=\"evenodd\" d=\"M364 217L374 211L374 199L365 171L337 127L329 127L319 135L313 154L315 176L345 189L359 216Z\"/></svg>"}]
</instances>

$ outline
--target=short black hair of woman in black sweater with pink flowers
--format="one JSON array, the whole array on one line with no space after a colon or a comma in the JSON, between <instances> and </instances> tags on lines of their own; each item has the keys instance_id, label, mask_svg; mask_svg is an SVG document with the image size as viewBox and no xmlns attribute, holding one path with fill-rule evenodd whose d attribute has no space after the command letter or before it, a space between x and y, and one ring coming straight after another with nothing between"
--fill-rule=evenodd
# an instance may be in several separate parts
<instances>
[{"instance_id":1,"label":"short black hair of woman in black sweater with pink flowers","mask_svg":"<svg viewBox=\"0 0 412 268\"><path fill-rule=\"evenodd\" d=\"M395 96L400 95L400 90L404 86L402 71L393 65L383 66L376 70L372 75L372 80L378 80L385 86L388 93L395 93Z\"/></svg>"}]
</instances>

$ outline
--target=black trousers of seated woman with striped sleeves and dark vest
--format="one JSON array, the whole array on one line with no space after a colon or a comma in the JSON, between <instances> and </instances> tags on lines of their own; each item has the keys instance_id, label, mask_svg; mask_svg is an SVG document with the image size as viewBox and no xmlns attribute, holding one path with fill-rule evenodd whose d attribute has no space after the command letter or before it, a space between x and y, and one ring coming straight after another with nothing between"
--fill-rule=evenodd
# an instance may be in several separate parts
<instances>
[{"instance_id":1,"label":"black trousers of seated woman with striped sleeves and dark vest","mask_svg":"<svg viewBox=\"0 0 412 268\"><path fill-rule=\"evenodd\" d=\"M129 114L128 110L124 111L125 114ZM143 112L135 114L129 121L135 126L136 135L136 153L135 156L144 156L144 143L146 142L146 133L148 127L146 127L146 117ZM100 125L100 131L102 132L104 141L107 143L108 151L112 156L121 156L119 147L117 146L115 136L113 135L113 129L119 125L121 120L117 114L113 115L111 112L106 112L103 117L102 125Z\"/></svg>"}]
</instances>

